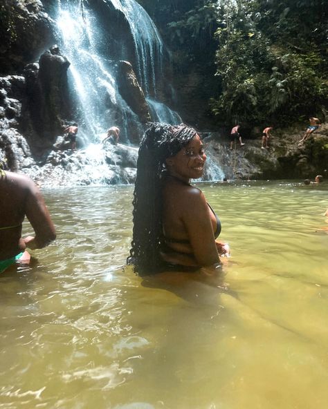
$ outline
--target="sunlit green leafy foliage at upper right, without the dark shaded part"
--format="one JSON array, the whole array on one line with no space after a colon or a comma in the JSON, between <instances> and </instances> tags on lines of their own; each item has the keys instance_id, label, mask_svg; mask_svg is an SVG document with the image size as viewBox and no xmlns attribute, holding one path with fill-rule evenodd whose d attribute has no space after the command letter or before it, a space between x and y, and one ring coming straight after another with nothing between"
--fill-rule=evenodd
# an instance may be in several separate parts
<instances>
[{"instance_id":1,"label":"sunlit green leafy foliage at upper right, without the dark shaded part","mask_svg":"<svg viewBox=\"0 0 328 409\"><path fill-rule=\"evenodd\" d=\"M215 115L229 122L281 123L320 112L328 82L317 32L325 13L318 3L324 2L220 2L215 36L221 93L210 102Z\"/></svg>"}]
</instances>

